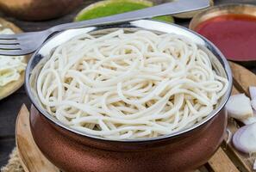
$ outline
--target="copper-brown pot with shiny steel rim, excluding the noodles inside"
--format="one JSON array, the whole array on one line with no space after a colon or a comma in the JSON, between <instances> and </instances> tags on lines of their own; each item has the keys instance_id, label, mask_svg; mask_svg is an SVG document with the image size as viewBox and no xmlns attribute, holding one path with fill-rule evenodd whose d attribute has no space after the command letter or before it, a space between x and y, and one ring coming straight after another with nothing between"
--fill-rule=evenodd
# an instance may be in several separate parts
<instances>
[{"instance_id":1,"label":"copper-brown pot with shiny steel rim, excluding the noodles inside","mask_svg":"<svg viewBox=\"0 0 256 172\"><path fill-rule=\"evenodd\" d=\"M38 101L34 85L41 66L47 61L53 48L81 33L104 34L117 28L129 31L143 28L154 32L183 34L194 40L209 54L215 71L228 78L228 91L219 105L202 121L183 131L157 138L119 141L78 132L47 114ZM30 115L34 141L53 164L66 172L180 172L197 169L209 160L222 143L227 126L224 105L231 88L232 75L228 62L208 40L174 24L147 20L64 31L53 36L34 53L26 71L26 89L34 104Z\"/></svg>"}]
</instances>

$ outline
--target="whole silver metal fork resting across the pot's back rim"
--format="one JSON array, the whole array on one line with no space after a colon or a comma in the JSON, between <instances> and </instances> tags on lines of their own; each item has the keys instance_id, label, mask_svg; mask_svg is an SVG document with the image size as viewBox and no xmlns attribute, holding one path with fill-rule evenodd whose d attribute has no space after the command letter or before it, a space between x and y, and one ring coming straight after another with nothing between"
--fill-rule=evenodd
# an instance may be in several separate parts
<instances>
[{"instance_id":1,"label":"whole silver metal fork resting across the pot's back rim","mask_svg":"<svg viewBox=\"0 0 256 172\"><path fill-rule=\"evenodd\" d=\"M209 7L209 0L178 0L118 15L109 15L83 22L60 24L39 32L0 34L0 55L16 56L32 53L36 51L51 35L66 29L130 22L160 15L173 15L206 7Z\"/></svg>"}]
</instances>

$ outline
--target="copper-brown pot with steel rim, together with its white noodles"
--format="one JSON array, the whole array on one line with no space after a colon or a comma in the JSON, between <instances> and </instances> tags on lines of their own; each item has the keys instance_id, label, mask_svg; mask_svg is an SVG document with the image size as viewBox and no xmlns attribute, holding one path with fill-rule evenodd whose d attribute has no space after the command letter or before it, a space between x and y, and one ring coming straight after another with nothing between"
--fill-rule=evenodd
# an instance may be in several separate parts
<instances>
[{"instance_id":1,"label":"copper-brown pot with steel rim, together with its white noodles","mask_svg":"<svg viewBox=\"0 0 256 172\"><path fill-rule=\"evenodd\" d=\"M232 89L209 40L165 22L76 28L34 52L30 126L64 171L189 171L222 143Z\"/></svg>"}]
</instances>

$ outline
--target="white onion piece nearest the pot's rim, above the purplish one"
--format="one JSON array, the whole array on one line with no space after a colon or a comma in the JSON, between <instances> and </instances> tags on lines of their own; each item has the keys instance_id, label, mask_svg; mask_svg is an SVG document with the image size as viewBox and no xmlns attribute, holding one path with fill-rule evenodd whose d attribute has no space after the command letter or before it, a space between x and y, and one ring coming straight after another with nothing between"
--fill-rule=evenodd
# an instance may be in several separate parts
<instances>
[{"instance_id":1,"label":"white onion piece nearest the pot's rim, above the purplish one","mask_svg":"<svg viewBox=\"0 0 256 172\"><path fill-rule=\"evenodd\" d=\"M250 99L245 94L230 96L226 107L228 116L234 119L243 120L253 116Z\"/></svg>"}]
</instances>

